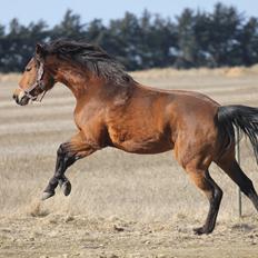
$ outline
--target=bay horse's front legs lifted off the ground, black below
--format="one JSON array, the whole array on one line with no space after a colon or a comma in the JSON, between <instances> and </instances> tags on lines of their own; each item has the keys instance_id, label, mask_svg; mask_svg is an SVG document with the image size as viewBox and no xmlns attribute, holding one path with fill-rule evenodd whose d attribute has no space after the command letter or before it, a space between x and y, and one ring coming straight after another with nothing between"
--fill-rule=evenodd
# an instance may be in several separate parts
<instances>
[{"instance_id":1,"label":"bay horse's front legs lifted off the ground, black below","mask_svg":"<svg viewBox=\"0 0 258 258\"><path fill-rule=\"evenodd\" d=\"M91 155L97 149L99 148L87 141L82 132L77 133L70 141L61 143L57 151L56 170L43 191L42 200L54 196L54 189L58 185L62 188L64 196L68 196L71 191L71 183L64 176L66 170L78 159Z\"/></svg>"}]
</instances>

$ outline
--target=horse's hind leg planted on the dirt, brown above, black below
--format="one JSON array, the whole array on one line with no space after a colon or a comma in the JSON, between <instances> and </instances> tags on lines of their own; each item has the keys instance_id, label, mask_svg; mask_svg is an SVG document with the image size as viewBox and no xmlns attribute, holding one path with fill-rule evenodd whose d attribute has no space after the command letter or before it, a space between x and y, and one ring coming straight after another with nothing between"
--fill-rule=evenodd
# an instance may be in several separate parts
<instances>
[{"instance_id":1,"label":"horse's hind leg planted on the dirt, brown above, black below","mask_svg":"<svg viewBox=\"0 0 258 258\"><path fill-rule=\"evenodd\" d=\"M202 227L194 229L194 231L196 235L210 234L214 231L216 225L222 199L222 190L210 177L208 169L198 169L195 166L187 166L186 170L195 185L206 195L209 200L209 211L206 222Z\"/></svg>"}]
</instances>

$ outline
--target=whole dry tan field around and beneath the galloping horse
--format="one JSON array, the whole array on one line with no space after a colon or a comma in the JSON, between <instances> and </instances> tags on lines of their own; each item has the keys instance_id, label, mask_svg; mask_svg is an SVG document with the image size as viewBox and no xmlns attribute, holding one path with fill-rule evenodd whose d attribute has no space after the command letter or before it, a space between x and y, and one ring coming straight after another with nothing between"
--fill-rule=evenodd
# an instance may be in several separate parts
<instances>
[{"instance_id":1,"label":"whole dry tan field around and beneath the galloping horse","mask_svg":"<svg viewBox=\"0 0 258 258\"><path fill-rule=\"evenodd\" d=\"M222 105L258 103L258 68L140 71L133 78L162 89L204 92ZM0 76L0 257L258 257L258 216L216 166L225 195L210 236L192 228L207 215L206 198L171 152L155 156L105 149L67 172L72 192L40 201L59 145L73 135L75 99L57 85L41 103L17 106L18 75ZM241 166L258 189L252 150L241 141Z\"/></svg>"}]
</instances>

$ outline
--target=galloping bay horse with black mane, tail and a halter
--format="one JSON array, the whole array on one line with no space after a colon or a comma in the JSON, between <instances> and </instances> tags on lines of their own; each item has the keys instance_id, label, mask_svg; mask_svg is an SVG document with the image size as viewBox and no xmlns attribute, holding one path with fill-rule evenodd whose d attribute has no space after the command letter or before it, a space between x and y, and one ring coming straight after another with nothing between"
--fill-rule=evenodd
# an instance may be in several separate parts
<instances>
[{"instance_id":1,"label":"galloping bay horse with black mane, tail and a halter","mask_svg":"<svg viewBox=\"0 0 258 258\"><path fill-rule=\"evenodd\" d=\"M258 161L258 108L220 106L199 92L140 85L101 48L67 40L36 46L13 99L28 105L56 82L66 85L77 100L78 132L58 148L54 175L42 199L52 197L58 185L68 196L67 168L97 150L115 147L132 153L173 150L179 165L209 200L206 222L194 229L197 235L214 230L222 198L209 173L212 161L258 210L254 185L235 159L236 128L249 137Z\"/></svg>"}]
</instances>

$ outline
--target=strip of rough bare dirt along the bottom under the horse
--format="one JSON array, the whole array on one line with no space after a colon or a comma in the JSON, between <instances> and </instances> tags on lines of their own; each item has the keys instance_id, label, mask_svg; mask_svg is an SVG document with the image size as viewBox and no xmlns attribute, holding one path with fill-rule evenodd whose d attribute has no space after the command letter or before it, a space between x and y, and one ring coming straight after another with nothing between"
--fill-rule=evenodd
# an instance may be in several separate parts
<instances>
[{"instance_id":1,"label":"strip of rough bare dirt along the bottom under the horse","mask_svg":"<svg viewBox=\"0 0 258 258\"><path fill-rule=\"evenodd\" d=\"M187 225L64 215L1 218L0 257L258 257L258 221L220 224L201 237Z\"/></svg>"}]
</instances>

